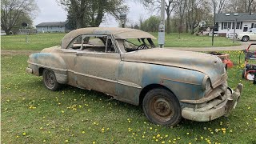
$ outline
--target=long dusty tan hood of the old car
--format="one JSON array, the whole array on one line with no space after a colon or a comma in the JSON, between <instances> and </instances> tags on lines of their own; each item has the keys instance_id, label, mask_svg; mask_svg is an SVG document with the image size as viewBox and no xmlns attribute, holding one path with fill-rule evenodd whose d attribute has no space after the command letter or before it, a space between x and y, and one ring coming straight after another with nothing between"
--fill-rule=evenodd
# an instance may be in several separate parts
<instances>
[{"instance_id":1,"label":"long dusty tan hood of the old car","mask_svg":"<svg viewBox=\"0 0 256 144\"><path fill-rule=\"evenodd\" d=\"M226 80L226 70L221 59L211 54L154 48L122 54L122 61L144 62L197 70L210 78L213 87Z\"/></svg>"}]
</instances>

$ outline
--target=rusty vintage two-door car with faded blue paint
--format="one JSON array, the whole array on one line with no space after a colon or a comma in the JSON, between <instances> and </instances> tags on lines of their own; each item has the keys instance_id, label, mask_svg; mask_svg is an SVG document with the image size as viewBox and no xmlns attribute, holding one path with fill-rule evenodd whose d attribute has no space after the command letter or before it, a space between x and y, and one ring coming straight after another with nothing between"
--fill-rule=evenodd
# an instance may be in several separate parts
<instances>
[{"instance_id":1,"label":"rusty vintage two-door car with faded blue paint","mask_svg":"<svg viewBox=\"0 0 256 144\"><path fill-rule=\"evenodd\" d=\"M26 71L42 76L49 90L68 84L141 104L155 124L174 126L181 118L207 122L230 114L242 84L228 87L218 57L156 48L152 39L125 28L73 30L61 46L31 54Z\"/></svg>"}]
</instances>

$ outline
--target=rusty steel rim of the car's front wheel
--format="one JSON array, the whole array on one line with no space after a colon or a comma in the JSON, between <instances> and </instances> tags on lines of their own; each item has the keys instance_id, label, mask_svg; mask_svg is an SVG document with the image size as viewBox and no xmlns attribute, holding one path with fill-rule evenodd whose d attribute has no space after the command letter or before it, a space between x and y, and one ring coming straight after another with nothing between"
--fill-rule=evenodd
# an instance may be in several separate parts
<instances>
[{"instance_id":1,"label":"rusty steel rim of the car's front wheel","mask_svg":"<svg viewBox=\"0 0 256 144\"><path fill-rule=\"evenodd\" d=\"M158 95L150 100L150 114L158 121L166 122L174 116L174 106L169 98Z\"/></svg>"}]
</instances>

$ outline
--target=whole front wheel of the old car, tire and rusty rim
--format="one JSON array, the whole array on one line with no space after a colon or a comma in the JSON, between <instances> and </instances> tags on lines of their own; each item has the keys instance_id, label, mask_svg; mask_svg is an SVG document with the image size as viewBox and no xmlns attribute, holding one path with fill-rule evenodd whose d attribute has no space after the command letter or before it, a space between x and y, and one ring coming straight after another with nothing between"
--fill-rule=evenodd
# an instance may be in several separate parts
<instances>
[{"instance_id":1,"label":"whole front wheel of the old car, tire and rusty rim","mask_svg":"<svg viewBox=\"0 0 256 144\"><path fill-rule=\"evenodd\" d=\"M175 126L182 118L178 99L169 90L150 90L143 99L143 111L146 118L155 124Z\"/></svg>"}]
</instances>

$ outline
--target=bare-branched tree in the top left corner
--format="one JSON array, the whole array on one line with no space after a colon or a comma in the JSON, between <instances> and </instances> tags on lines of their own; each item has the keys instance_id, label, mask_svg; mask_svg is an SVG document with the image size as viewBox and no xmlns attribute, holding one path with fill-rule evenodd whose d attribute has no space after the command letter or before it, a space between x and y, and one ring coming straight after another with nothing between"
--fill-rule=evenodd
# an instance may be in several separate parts
<instances>
[{"instance_id":1,"label":"bare-branched tree in the top left corner","mask_svg":"<svg viewBox=\"0 0 256 144\"><path fill-rule=\"evenodd\" d=\"M38 10L34 0L2 0L1 1L1 27L6 34L18 25L22 15L31 17L33 12Z\"/></svg>"}]
</instances>

